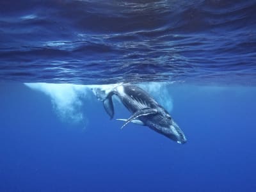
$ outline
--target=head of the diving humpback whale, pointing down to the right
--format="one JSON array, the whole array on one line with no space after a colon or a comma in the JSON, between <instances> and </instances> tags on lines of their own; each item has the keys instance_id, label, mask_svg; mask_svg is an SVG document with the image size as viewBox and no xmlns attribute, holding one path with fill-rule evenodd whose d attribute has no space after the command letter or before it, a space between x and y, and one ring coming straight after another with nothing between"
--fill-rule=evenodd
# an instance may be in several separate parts
<instances>
[{"instance_id":1,"label":"head of the diving humpback whale, pointing down to the right","mask_svg":"<svg viewBox=\"0 0 256 192\"><path fill-rule=\"evenodd\" d=\"M179 125L173 121L173 118L165 110L164 113L152 115L151 118L148 119L148 126L177 143L184 144L187 141Z\"/></svg>"}]
</instances>

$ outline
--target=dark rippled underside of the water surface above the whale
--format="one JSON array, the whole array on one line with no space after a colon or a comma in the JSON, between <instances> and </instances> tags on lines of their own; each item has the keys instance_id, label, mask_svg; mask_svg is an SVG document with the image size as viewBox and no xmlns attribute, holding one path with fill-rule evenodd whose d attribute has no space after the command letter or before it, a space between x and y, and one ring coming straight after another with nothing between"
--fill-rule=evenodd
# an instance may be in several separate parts
<instances>
[{"instance_id":1,"label":"dark rippled underside of the water surface above the whale","mask_svg":"<svg viewBox=\"0 0 256 192\"><path fill-rule=\"evenodd\" d=\"M256 84L255 1L1 1L0 81Z\"/></svg>"}]
</instances>

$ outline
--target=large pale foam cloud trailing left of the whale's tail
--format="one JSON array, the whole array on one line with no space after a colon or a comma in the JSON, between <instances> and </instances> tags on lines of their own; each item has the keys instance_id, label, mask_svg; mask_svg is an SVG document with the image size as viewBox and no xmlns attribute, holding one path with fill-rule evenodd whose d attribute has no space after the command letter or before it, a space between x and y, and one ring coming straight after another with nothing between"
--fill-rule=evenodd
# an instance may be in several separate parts
<instances>
[{"instance_id":1,"label":"large pale foam cloud trailing left of the whale's tail","mask_svg":"<svg viewBox=\"0 0 256 192\"><path fill-rule=\"evenodd\" d=\"M90 98L90 92L102 100L116 84L109 85L79 85L79 84L54 84L54 83L25 83L33 90L38 90L51 97L52 107L58 117L69 123L87 124L88 119L84 114L84 101ZM102 95L96 90L102 90ZM103 109L103 108L102 108ZM102 110L100 109L100 110Z\"/></svg>"}]
</instances>

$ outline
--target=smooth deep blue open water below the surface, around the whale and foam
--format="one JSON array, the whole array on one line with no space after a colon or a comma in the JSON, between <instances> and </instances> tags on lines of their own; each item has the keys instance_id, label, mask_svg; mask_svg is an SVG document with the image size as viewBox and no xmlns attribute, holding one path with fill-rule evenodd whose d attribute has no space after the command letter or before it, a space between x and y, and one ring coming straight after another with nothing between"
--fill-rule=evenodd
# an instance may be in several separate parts
<instances>
[{"instance_id":1,"label":"smooth deep blue open water below the surface, around the whale and foam","mask_svg":"<svg viewBox=\"0 0 256 192\"><path fill-rule=\"evenodd\" d=\"M0 191L255 191L255 88L170 93L185 145L121 131L96 99L84 102L86 129L61 122L43 93L1 84ZM118 105L115 116L129 113Z\"/></svg>"}]
</instances>

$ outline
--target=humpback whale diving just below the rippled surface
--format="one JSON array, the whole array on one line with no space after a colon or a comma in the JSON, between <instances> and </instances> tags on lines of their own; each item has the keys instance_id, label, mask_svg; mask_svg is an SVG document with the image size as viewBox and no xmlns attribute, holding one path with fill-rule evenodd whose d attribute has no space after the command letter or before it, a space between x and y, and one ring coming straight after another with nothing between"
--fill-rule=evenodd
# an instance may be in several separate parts
<instances>
[{"instance_id":1,"label":"humpback whale diving just below the rippled surface","mask_svg":"<svg viewBox=\"0 0 256 192\"><path fill-rule=\"evenodd\" d=\"M108 93L103 100L103 104L111 119L115 113L112 100L113 95L116 95L132 113L127 119L117 119L125 122L121 129L129 124L129 122L146 125L177 143L186 143L184 133L173 121L166 109L160 106L156 100L140 87L132 84L119 84Z\"/></svg>"}]
</instances>

